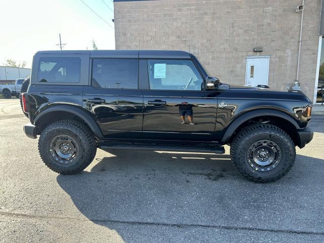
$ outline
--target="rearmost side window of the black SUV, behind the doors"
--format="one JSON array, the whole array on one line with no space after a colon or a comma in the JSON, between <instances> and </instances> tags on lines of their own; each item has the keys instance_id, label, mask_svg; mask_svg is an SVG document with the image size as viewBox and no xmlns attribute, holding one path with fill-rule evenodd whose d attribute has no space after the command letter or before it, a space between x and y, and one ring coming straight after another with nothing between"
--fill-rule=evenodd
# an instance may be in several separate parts
<instances>
[{"instance_id":1,"label":"rearmost side window of the black SUV, behind the doors","mask_svg":"<svg viewBox=\"0 0 324 243\"><path fill-rule=\"evenodd\" d=\"M78 57L42 57L38 65L38 82L79 83L80 64Z\"/></svg>"}]
</instances>

